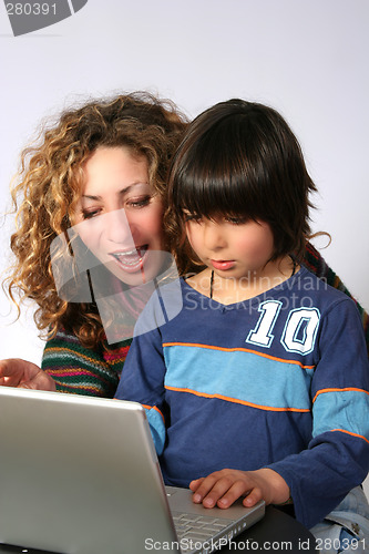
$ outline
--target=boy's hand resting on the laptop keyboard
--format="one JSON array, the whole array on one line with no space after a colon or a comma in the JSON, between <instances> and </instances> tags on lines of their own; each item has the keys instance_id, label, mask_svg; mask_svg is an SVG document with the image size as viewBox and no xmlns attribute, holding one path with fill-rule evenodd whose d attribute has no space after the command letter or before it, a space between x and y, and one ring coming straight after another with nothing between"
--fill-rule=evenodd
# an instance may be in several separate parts
<instances>
[{"instance_id":1,"label":"boy's hand resting on the laptop keyboard","mask_svg":"<svg viewBox=\"0 0 369 554\"><path fill-rule=\"evenodd\" d=\"M289 499L286 481L275 471L264 468L256 471L222 470L189 483L193 501L205 507L229 507L245 496L243 504L254 506L259 500L266 504L283 504Z\"/></svg>"}]
</instances>

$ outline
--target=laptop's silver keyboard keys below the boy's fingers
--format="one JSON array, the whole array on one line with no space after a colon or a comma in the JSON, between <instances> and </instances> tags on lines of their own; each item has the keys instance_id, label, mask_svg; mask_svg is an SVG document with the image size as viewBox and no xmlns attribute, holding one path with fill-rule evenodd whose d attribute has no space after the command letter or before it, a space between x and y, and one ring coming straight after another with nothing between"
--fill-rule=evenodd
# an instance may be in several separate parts
<instances>
[{"instance_id":1,"label":"laptop's silver keyboard keys below the boy's fingers","mask_svg":"<svg viewBox=\"0 0 369 554\"><path fill-rule=\"evenodd\" d=\"M192 552L191 545L209 542L222 536L222 531L232 525L232 521L218 520L206 515L172 512L175 531L181 542L181 552ZM188 546L188 548L186 547Z\"/></svg>"}]
</instances>

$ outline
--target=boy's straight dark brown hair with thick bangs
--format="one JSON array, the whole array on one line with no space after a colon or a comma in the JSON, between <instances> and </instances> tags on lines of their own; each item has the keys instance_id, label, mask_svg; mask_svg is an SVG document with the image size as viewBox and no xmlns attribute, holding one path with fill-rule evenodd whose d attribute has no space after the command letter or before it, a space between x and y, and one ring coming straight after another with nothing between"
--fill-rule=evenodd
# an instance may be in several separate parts
<instances>
[{"instance_id":1,"label":"boy's straight dark brown hair with thick bangs","mask_svg":"<svg viewBox=\"0 0 369 554\"><path fill-rule=\"evenodd\" d=\"M198 263L183 211L268 223L277 259L303 256L316 191L300 145L281 115L244 100L221 102L189 124L172 163L165 223L180 273Z\"/></svg>"}]
</instances>

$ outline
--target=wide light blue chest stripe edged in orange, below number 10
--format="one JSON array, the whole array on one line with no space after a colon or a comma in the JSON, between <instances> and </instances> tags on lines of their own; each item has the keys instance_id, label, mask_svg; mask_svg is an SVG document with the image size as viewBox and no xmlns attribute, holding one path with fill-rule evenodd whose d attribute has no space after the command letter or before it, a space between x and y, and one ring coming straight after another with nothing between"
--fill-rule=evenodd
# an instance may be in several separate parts
<instances>
[{"instance_id":1,"label":"wide light blue chest stripe edged in orange, below number 10","mask_svg":"<svg viewBox=\"0 0 369 554\"><path fill-rule=\"evenodd\" d=\"M254 352L165 346L165 386L270 408L309 410L314 370Z\"/></svg>"}]
</instances>

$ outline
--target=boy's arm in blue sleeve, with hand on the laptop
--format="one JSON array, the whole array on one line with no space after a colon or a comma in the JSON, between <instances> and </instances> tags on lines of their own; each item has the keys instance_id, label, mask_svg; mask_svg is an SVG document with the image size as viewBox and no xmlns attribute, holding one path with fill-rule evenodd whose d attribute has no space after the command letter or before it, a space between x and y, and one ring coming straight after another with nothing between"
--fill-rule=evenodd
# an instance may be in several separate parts
<instances>
[{"instance_id":1,"label":"boy's arm in blue sleeve, with hand on the laptop","mask_svg":"<svg viewBox=\"0 0 369 554\"><path fill-rule=\"evenodd\" d=\"M312 438L307 448L257 471L224 470L192 482L191 489L203 501L211 494L209 503L216 499L222 506L223 488L226 503L249 490L245 505L259 497L281 503L289 497L285 483L297 519L311 527L363 481L369 463L369 366L359 316L350 300L327 316L319 350L311 382Z\"/></svg>"}]
</instances>

